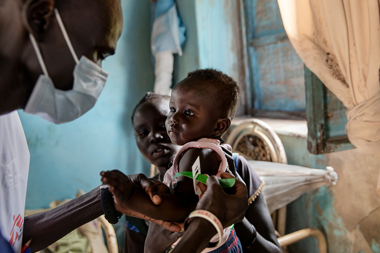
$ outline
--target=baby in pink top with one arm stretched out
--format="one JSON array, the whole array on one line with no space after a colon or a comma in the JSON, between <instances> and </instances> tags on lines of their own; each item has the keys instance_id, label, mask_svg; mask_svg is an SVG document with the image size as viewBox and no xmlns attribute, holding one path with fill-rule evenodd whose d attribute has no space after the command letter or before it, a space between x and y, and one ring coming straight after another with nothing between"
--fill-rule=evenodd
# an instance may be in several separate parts
<instances>
[{"instance_id":1,"label":"baby in pink top with one arm stretched out","mask_svg":"<svg viewBox=\"0 0 380 253\"><path fill-rule=\"evenodd\" d=\"M159 220L183 222L195 209L201 192L197 184L187 177L173 179L177 172L191 172L198 159L200 174L220 175L226 171L227 162L220 148L221 137L227 131L236 112L239 88L226 74L214 69L198 69L174 86L170 98L170 112L165 126L173 144L182 146L176 154L173 166L165 173L164 183L173 185L173 194L161 194L162 202L155 206L136 188L124 189L111 180L115 202ZM109 174L103 176L111 177ZM197 193L197 194L195 194ZM154 225L151 225L152 227ZM152 228L153 229L153 228ZM160 235L150 233L147 241ZM214 238L211 242L217 242ZM203 252L241 252L241 245L233 228L223 231L221 247L206 248ZM218 245L220 246L220 245ZM151 250L154 252L154 249Z\"/></svg>"}]
</instances>

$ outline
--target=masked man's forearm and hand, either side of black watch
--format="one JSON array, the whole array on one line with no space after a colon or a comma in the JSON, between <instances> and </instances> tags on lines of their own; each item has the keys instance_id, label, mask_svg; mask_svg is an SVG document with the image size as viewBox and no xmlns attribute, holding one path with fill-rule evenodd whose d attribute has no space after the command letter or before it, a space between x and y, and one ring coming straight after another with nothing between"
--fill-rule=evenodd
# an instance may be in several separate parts
<instances>
[{"instance_id":1,"label":"masked man's forearm and hand, either side of black watch","mask_svg":"<svg viewBox=\"0 0 380 253\"><path fill-rule=\"evenodd\" d=\"M143 194L147 196L147 201L153 206L152 201L156 204L160 203L159 191L161 186L157 187L154 181L143 175L125 177L134 182L134 185L138 185L140 189L143 189L141 191L143 191ZM144 217L142 214L132 212L117 204L115 204L115 209L120 213L155 222L171 231L180 231L180 227L175 224ZM32 249L32 252L42 250L74 229L103 214L100 201L100 188L96 187L92 191L54 209L25 217L22 236L23 244L31 239L29 247Z\"/></svg>"}]
</instances>

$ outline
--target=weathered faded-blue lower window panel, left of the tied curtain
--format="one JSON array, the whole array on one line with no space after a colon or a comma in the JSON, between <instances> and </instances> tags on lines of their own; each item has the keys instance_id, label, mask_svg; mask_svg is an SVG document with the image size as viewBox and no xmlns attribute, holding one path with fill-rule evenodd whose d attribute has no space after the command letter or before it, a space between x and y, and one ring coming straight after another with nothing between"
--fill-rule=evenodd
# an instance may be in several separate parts
<instances>
[{"instance_id":1,"label":"weathered faded-blue lower window panel, left of the tied curtain","mask_svg":"<svg viewBox=\"0 0 380 253\"><path fill-rule=\"evenodd\" d=\"M303 62L290 42L265 44L250 50L257 64L254 75L254 108L304 111Z\"/></svg>"}]
</instances>

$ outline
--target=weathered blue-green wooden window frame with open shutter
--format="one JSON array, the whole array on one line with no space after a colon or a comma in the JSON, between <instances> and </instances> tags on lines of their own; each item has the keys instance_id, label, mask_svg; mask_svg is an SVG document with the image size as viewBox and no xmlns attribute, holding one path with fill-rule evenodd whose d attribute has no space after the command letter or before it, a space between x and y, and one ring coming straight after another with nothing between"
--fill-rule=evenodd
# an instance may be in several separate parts
<instances>
[{"instance_id":1,"label":"weathered blue-green wooden window frame with open shutter","mask_svg":"<svg viewBox=\"0 0 380 253\"><path fill-rule=\"evenodd\" d=\"M241 6L241 31L242 31L242 47L244 53L244 63L245 63L245 80L248 82L245 85L244 89L244 97L245 103L243 104L245 108L245 114L250 115L251 117L261 117L261 118L275 118L275 119L292 119L292 120L306 120L307 121L307 149L311 154L324 154L336 151L342 151L354 148L354 146L349 142L347 135L339 135L332 136L329 135L334 134L335 129L338 129L338 133L344 132L341 129L341 126L336 126L336 122L340 122L340 125L344 123L342 117L338 117L334 119L335 122L329 122L329 112L331 108L339 107L340 105L334 104L335 101L338 101L336 96L334 96L331 92L327 90L327 88L323 85L323 83L315 76L306 66L304 66L304 86L305 86L305 111L278 111L278 110L262 110L254 108L254 98L255 98L255 66L254 60L249 56L249 48L255 48L258 46L278 43L288 40L288 37L285 31L277 31L275 34L268 34L260 37L250 38L252 34L250 34L250 26L254 26L254 21L252 20L253 16L249 16L252 13L252 10L248 10L251 8L251 2L247 0L240 0ZM328 93L328 95L327 95ZM331 93L331 94L330 94ZM329 102L328 98L330 99ZM331 104L328 104L330 103ZM343 108L345 110L345 108ZM335 116L336 116L336 112ZM339 113L337 113L339 114ZM341 116L341 112L338 116ZM346 119L345 119L346 120ZM334 128L334 129L333 129Z\"/></svg>"}]
</instances>

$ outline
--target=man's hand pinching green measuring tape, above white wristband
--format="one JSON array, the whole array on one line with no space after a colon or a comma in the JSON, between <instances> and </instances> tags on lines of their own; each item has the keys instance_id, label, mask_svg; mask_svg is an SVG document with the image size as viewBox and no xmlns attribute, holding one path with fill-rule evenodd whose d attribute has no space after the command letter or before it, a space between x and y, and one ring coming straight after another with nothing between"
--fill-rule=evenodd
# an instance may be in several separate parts
<instances>
[{"instance_id":1,"label":"man's hand pinching green measuring tape, above white wristband","mask_svg":"<svg viewBox=\"0 0 380 253\"><path fill-rule=\"evenodd\" d=\"M229 173L221 173L221 178L233 178ZM248 193L243 183L235 180L235 184L226 194L215 176L210 176L207 185L199 183L203 196L196 205L196 209L203 209L213 213L224 228L241 222L248 208ZM232 191L231 191L232 190Z\"/></svg>"}]
</instances>

